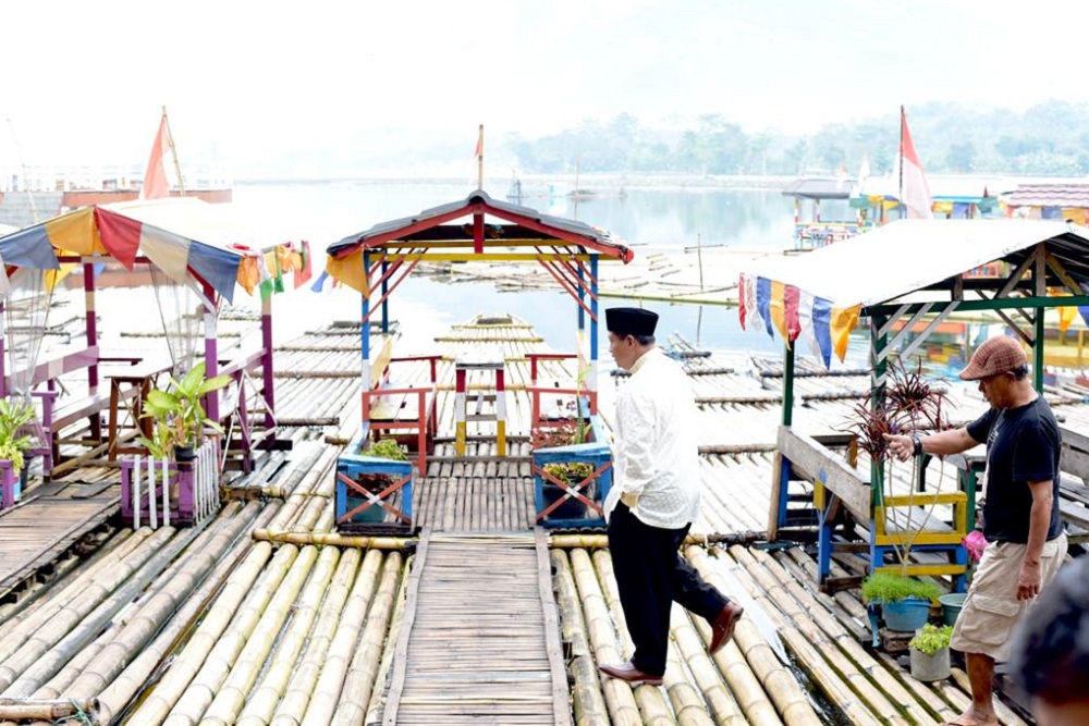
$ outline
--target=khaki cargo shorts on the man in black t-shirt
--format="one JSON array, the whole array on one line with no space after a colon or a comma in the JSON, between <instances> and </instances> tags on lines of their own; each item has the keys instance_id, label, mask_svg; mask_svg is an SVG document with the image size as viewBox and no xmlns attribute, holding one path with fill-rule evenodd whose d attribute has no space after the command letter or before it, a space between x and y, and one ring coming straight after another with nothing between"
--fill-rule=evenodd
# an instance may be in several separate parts
<instances>
[{"instance_id":1,"label":"khaki cargo shorts on the man in black t-shirt","mask_svg":"<svg viewBox=\"0 0 1089 726\"><path fill-rule=\"evenodd\" d=\"M1017 600L1017 576L1025 559L1025 544L992 542L968 588L960 616L953 627L950 648L984 653L995 661L1010 657L1010 636L1036 600ZM1043 544L1040 589L1055 577L1066 556L1066 534Z\"/></svg>"}]
</instances>

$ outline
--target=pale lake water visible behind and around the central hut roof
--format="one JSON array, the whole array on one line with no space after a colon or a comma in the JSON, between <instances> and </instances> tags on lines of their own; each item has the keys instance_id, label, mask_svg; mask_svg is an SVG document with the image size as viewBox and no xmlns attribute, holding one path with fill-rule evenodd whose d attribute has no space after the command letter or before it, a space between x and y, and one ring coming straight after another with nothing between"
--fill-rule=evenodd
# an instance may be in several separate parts
<instances>
[{"instance_id":1,"label":"pale lake water visible behind and around the central hut roof","mask_svg":"<svg viewBox=\"0 0 1089 726\"><path fill-rule=\"evenodd\" d=\"M584 186L591 186L587 183ZM505 199L507 182L485 185ZM450 182L282 182L238 183L236 207L266 220L267 230L284 239L309 239L315 249L371 225L465 198L472 184ZM615 192L616 189L613 189ZM563 197L526 197L522 204L549 214L574 217L609 230L633 246L636 255L678 251L685 246L738 245L785 248L792 244L793 200L775 190L708 188L632 188L620 195L576 202ZM319 262L319 260L316 260ZM323 262L323 261L322 261ZM244 297L241 294L240 297ZM359 297L346 288L311 293L302 288L276 300L278 337L293 337L321 319L358 318ZM602 307L632 305L602 300ZM659 337L680 333L708 349L747 349L772 355L782 342L742 331L737 311L718 306L651 304L661 316ZM558 310L566 310L566 315ZM478 312L512 312L525 318L558 349L572 349L577 305L560 292L501 293L489 283L444 284L409 276L390 297L390 315L403 330L423 337ZM604 327L601 325L602 335ZM865 359L865 345L852 346L851 365ZM607 348L602 348L604 352Z\"/></svg>"}]
</instances>

